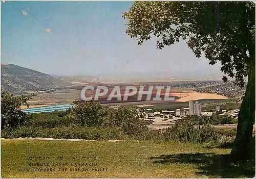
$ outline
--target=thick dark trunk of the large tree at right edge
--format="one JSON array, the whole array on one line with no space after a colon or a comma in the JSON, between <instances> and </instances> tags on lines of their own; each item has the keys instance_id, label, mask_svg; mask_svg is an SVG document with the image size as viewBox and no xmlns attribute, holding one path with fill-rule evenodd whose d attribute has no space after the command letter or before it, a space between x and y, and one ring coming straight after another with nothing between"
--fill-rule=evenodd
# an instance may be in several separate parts
<instances>
[{"instance_id":1,"label":"thick dark trunk of the large tree at right edge","mask_svg":"<svg viewBox=\"0 0 256 179\"><path fill-rule=\"evenodd\" d=\"M254 58L254 57L253 57ZM254 59L250 59L254 62ZM233 162L254 160L252 130L255 120L255 64L249 65L248 84L238 115L237 135L231 151Z\"/></svg>"}]
</instances>

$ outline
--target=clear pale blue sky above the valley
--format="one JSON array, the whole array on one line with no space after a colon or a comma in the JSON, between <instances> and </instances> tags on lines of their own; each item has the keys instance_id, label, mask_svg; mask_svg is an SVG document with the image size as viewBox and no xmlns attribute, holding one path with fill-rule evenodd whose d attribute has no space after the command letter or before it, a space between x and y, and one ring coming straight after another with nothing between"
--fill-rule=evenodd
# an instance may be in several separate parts
<instances>
[{"instance_id":1,"label":"clear pale blue sky above the valley","mask_svg":"<svg viewBox=\"0 0 256 179\"><path fill-rule=\"evenodd\" d=\"M125 34L133 2L2 3L2 63L55 75L154 73L221 75L184 41L156 48Z\"/></svg>"}]
</instances>

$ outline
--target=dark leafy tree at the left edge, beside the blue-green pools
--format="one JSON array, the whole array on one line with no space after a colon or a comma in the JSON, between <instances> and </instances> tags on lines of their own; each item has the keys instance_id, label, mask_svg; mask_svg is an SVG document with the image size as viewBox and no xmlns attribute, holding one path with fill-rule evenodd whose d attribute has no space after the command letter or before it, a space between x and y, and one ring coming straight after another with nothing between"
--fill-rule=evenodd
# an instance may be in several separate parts
<instances>
[{"instance_id":1,"label":"dark leafy tree at the left edge, beside the blue-green pools","mask_svg":"<svg viewBox=\"0 0 256 179\"><path fill-rule=\"evenodd\" d=\"M2 129L9 129L28 122L28 115L20 110L20 106L28 105L31 95L13 96L9 92L1 93L1 117Z\"/></svg>"}]
</instances>

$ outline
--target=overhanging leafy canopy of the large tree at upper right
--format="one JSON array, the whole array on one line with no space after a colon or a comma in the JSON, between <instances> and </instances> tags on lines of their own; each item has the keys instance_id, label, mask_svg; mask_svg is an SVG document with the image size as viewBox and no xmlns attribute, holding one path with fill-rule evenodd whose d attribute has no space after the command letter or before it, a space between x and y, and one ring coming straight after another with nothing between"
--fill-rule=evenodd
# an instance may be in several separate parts
<instances>
[{"instance_id":1,"label":"overhanging leafy canopy of the large tree at upper right","mask_svg":"<svg viewBox=\"0 0 256 179\"><path fill-rule=\"evenodd\" d=\"M126 33L138 44L157 37L163 48L181 39L196 57L202 53L221 71L244 86L250 73L255 47L255 5L252 2L135 2L129 12Z\"/></svg>"}]
</instances>

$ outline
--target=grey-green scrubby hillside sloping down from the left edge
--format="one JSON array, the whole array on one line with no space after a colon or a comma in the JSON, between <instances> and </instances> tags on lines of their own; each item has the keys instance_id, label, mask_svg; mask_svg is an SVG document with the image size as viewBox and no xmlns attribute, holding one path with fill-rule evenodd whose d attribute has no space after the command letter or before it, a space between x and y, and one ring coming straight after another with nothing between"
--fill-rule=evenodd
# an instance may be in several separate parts
<instances>
[{"instance_id":1,"label":"grey-green scrubby hillside sloping down from the left edge","mask_svg":"<svg viewBox=\"0 0 256 179\"><path fill-rule=\"evenodd\" d=\"M13 64L1 65L1 79L2 90L14 93L71 85L48 74Z\"/></svg>"}]
</instances>

